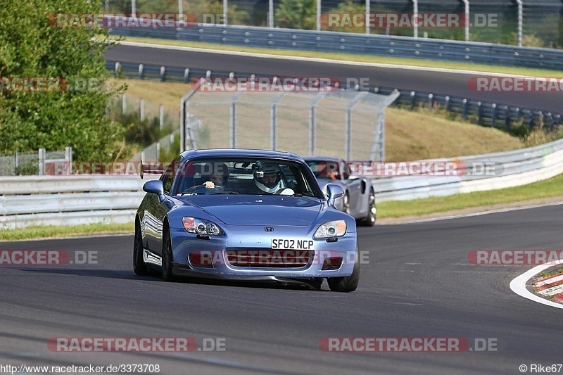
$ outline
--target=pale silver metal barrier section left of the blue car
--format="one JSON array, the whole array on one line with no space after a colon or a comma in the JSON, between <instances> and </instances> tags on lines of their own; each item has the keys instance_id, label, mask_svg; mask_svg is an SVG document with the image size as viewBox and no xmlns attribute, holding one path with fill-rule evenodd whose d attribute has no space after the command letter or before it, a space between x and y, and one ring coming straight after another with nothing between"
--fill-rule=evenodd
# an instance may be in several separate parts
<instances>
[{"instance_id":1,"label":"pale silver metal barrier section left of the blue car","mask_svg":"<svg viewBox=\"0 0 563 375\"><path fill-rule=\"evenodd\" d=\"M0 229L132 222L145 176L0 177Z\"/></svg>"}]
</instances>

